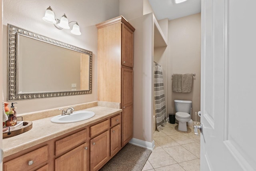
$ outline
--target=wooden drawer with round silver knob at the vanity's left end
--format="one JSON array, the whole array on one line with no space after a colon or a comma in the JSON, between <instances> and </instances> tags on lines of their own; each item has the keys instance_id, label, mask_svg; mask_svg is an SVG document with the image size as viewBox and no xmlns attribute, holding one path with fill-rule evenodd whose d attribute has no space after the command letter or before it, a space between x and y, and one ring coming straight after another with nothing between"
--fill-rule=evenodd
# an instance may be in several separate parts
<instances>
[{"instance_id":1,"label":"wooden drawer with round silver knob at the vanity's left end","mask_svg":"<svg viewBox=\"0 0 256 171\"><path fill-rule=\"evenodd\" d=\"M48 145L4 163L4 171L28 171L48 160ZM29 165L30 162L30 165Z\"/></svg>"}]
</instances>

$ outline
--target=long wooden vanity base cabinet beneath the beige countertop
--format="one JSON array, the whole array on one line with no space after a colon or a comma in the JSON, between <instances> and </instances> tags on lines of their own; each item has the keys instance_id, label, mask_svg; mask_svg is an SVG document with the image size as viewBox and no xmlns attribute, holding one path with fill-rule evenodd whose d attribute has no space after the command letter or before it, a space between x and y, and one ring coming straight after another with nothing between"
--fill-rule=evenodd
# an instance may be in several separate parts
<instances>
[{"instance_id":1,"label":"long wooden vanity base cabinet beneath the beige countertop","mask_svg":"<svg viewBox=\"0 0 256 171\"><path fill-rule=\"evenodd\" d=\"M4 157L4 171L98 171L120 149L121 113Z\"/></svg>"}]
</instances>

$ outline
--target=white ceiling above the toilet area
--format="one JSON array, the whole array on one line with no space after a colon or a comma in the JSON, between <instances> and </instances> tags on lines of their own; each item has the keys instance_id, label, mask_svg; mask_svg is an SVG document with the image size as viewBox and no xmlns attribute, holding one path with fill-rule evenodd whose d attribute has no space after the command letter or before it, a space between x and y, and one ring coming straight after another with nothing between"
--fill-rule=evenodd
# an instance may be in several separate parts
<instances>
[{"instance_id":1,"label":"white ceiling above the toilet area","mask_svg":"<svg viewBox=\"0 0 256 171\"><path fill-rule=\"evenodd\" d=\"M157 20L174 20L201 12L201 0L187 0L175 4L175 0L148 0Z\"/></svg>"}]
</instances>

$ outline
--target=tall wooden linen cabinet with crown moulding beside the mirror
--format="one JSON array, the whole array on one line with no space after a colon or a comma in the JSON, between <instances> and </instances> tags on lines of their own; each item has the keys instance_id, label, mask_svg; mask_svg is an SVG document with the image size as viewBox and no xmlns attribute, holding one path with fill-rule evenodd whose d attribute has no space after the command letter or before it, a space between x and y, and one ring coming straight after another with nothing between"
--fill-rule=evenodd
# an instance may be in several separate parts
<instances>
[{"instance_id":1,"label":"tall wooden linen cabinet with crown moulding beside the mirror","mask_svg":"<svg viewBox=\"0 0 256 171\"><path fill-rule=\"evenodd\" d=\"M122 17L96 24L98 29L98 101L120 103L122 147L133 137L133 32Z\"/></svg>"}]
</instances>

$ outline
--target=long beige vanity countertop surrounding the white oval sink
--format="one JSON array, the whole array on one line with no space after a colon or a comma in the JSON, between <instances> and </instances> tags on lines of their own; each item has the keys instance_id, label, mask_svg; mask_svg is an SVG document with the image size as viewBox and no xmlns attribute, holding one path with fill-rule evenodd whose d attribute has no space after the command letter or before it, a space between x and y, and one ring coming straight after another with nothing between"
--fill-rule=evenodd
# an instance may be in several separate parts
<instances>
[{"instance_id":1,"label":"long beige vanity countertop surrounding the white oval sink","mask_svg":"<svg viewBox=\"0 0 256 171\"><path fill-rule=\"evenodd\" d=\"M75 123L52 123L50 121L52 117L32 121L33 127L29 131L3 139L4 157L90 125L122 111L122 109L101 106L90 107L83 110L93 111L95 113L94 117Z\"/></svg>"}]
</instances>

